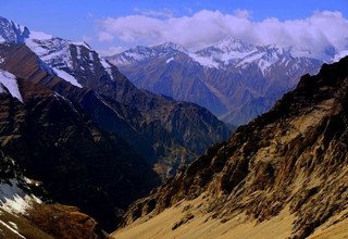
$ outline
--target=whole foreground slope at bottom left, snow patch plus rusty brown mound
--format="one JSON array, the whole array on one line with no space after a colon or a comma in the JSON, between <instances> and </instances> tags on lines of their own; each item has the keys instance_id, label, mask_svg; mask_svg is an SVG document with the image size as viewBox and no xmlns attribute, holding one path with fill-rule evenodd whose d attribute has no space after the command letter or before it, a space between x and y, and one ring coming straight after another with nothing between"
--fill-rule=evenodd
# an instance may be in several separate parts
<instances>
[{"instance_id":1,"label":"whole foreground slope at bottom left, snow patch plus rusty brown mound","mask_svg":"<svg viewBox=\"0 0 348 239\"><path fill-rule=\"evenodd\" d=\"M78 209L38 199L47 197L40 183L25 177L23 167L2 151L0 165L1 238L107 237L96 221Z\"/></svg>"}]
</instances>

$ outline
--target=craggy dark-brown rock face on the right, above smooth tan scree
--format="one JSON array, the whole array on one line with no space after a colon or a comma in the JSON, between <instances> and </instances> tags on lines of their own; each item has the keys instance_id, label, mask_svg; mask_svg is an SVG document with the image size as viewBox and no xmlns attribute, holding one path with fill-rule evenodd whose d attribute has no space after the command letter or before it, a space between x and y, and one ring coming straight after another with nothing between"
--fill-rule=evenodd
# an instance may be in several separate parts
<instances>
[{"instance_id":1,"label":"craggy dark-brown rock face on the right, above smooth tan scree","mask_svg":"<svg viewBox=\"0 0 348 239\"><path fill-rule=\"evenodd\" d=\"M348 207L348 58L304 75L269 112L134 203L124 223L206 193L206 212L259 222L289 206L294 238ZM341 219L347 217L343 215Z\"/></svg>"}]
</instances>

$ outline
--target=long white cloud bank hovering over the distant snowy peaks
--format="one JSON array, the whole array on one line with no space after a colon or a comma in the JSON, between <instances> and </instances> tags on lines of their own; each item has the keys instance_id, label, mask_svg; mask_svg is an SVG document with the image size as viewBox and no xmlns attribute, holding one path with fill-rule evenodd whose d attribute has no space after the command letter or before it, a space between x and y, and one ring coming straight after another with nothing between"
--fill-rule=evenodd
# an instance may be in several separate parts
<instances>
[{"instance_id":1,"label":"long white cloud bank hovering over the distant snowy peaks","mask_svg":"<svg viewBox=\"0 0 348 239\"><path fill-rule=\"evenodd\" d=\"M202 10L190 16L158 18L145 14L108 17L101 21L100 40L121 40L125 45L157 45L173 41L190 50L215 43L227 36L260 45L276 43L321 54L333 46L347 49L348 20L340 12L314 12L301 20L252 21L250 13L233 14Z\"/></svg>"}]
</instances>

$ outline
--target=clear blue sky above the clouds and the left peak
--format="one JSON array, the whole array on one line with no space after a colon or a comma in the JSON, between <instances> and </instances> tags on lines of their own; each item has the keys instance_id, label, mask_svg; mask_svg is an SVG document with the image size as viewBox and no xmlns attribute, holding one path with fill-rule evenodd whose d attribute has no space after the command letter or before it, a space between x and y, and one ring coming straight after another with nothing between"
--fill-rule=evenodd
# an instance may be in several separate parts
<instances>
[{"instance_id":1,"label":"clear blue sky above the clouds and the left peak","mask_svg":"<svg viewBox=\"0 0 348 239\"><path fill-rule=\"evenodd\" d=\"M219 13L228 16L228 14L244 13L241 10L247 15L245 17L254 23L270 17L275 17L281 22L303 20L311 17L314 12L325 10L339 11L341 17L346 18L348 16L348 0L1 0L0 15L26 25L30 29L73 40L86 39L97 50L107 51L116 47L127 48L139 43L158 43L152 39L153 36L147 38L146 33L139 35L138 32L141 29L135 28L134 25L132 33L127 33L122 38L117 37L121 30L125 30L124 27L120 27L120 24L130 21L122 18L125 16L146 16L146 21L150 21L149 24L152 24L152 20L163 22L175 17L190 17L201 11L219 11ZM108 17L114 22L109 21L109 25L105 25ZM211 17L213 21L214 17ZM140 22L141 20L139 17L132 18L132 21ZM141 27L140 22L137 23L139 28ZM112 24L119 28L115 29ZM171 26L169 25L169 27ZM152 33L151 28L148 30ZM163 35L156 33L156 36L158 34ZM134 40L134 38L139 38L139 40ZM163 37L163 40L165 39ZM169 37L169 40L171 39ZM185 45L187 40L183 42ZM190 45L192 43L187 43L186 47Z\"/></svg>"}]
</instances>

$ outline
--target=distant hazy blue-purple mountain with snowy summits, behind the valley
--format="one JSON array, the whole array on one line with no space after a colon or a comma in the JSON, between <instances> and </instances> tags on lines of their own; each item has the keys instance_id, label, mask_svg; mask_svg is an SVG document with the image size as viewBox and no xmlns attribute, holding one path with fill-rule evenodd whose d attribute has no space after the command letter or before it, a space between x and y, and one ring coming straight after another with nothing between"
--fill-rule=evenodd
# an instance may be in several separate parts
<instances>
[{"instance_id":1,"label":"distant hazy blue-purple mountain with snowy summits, behind the valley","mask_svg":"<svg viewBox=\"0 0 348 239\"><path fill-rule=\"evenodd\" d=\"M301 75L322 61L291 49L233 37L190 53L174 43L137 47L108 56L137 87L202 105L240 125L270 110Z\"/></svg>"}]
</instances>

